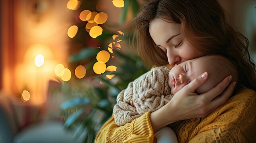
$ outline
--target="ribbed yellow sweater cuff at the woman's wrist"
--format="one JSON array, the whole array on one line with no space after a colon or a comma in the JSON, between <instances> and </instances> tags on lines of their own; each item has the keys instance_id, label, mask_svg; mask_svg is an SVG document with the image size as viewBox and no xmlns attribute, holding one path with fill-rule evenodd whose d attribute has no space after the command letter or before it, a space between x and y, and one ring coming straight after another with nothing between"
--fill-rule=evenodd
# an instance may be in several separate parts
<instances>
[{"instance_id":1,"label":"ribbed yellow sweater cuff at the woman's wrist","mask_svg":"<svg viewBox=\"0 0 256 143\"><path fill-rule=\"evenodd\" d=\"M152 143L154 142L154 131L150 122L150 113L147 112L141 117L133 120L133 133L126 143Z\"/></svg>"}]
</instances>

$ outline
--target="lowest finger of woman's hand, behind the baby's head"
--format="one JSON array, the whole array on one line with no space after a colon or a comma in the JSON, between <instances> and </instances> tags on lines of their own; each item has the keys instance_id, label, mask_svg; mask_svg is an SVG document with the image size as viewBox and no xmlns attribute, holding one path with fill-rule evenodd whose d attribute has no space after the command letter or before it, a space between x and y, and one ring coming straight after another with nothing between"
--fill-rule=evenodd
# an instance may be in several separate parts
<instances>
[{"instance_id":1,"label":"lowest finger of woman's hand, behind the baby's head","mask_svg":"<svg viewBox=\"0 0 256 143\"><path fill-rule=\"evenodd\" d=\"M229 86L221 93L221 95L217 96L215 99L213 99L208 105L209 109L217 108L227 102L229 97L232 95L235 88L235 82L232 82L229 84Z\"/></svg>"}]
</instances>

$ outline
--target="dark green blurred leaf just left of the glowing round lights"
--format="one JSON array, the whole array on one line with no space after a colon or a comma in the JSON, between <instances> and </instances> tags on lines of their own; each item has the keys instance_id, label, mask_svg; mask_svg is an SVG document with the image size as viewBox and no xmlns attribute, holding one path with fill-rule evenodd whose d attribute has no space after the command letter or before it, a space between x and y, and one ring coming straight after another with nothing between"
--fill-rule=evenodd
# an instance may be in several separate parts
<instances>
[{"instance_id":1,"label":"dark green blurred leaf just left of the glowing round lights","mask_svg":"<svg viewBox=\"0 0 256 143\"><path fill-rule=\"evenodd\" d=\"M83 48L76 54L73 54L72 56L70 56L69 62L80 62L82 60L88 60L92 57L96 57L98 52L100 52L100 49L96 47Z\"/></svg>"}]
</instances>

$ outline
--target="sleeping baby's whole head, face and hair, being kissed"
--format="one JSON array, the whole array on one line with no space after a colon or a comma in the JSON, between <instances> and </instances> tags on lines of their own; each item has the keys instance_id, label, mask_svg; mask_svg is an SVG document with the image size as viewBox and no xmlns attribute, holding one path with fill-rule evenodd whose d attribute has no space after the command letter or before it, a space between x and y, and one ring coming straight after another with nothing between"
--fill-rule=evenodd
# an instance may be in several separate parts
<instances>
[{"instance_id":1,"label":"sleeping baby's whole head, face and hair, being kissed","mask_svg":"<svg viewBox=\"0 0 256 143\"><path fill-rule=\"evenodd\" d=\"M238 83L237 69L230 60L220 55L208 55L188 60L170 70L168 85L171 88L171 94L174 95L203 72L208 73L208 79L196 89L197 94L209 91L228 75L233 76L231 82L236 81Z\"/></svg>"}]
</instances>

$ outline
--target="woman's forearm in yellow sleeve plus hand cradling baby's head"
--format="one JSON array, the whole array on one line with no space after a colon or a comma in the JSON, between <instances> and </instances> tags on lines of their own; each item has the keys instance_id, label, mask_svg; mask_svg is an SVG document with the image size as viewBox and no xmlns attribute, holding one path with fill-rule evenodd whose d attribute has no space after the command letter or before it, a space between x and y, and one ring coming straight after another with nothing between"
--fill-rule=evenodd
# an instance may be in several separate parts
<instances>
[{"instance_id":1,"label":"woman's forearm in yellow sleeve plus hand cradling baby's head","mask_svg":"<svg viewBox=\"0 0 256 143\"><path fill-rule=\"evenodd\" d=\"M197 95L195 89L207 80L207 76L206 73L204 77L199 76L194 79L190 84L178 91L172 100L159 110L151 114L147 112L124 126L117 126L112 116L100 129L95 142L108 143L135 140L153 142L154 131L170 123L207 116L219 105L225 103L234 89L233 83L229 84L231 79L228 76L213 89Z\"/></svg>"}]
</instances>

